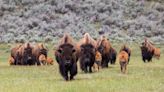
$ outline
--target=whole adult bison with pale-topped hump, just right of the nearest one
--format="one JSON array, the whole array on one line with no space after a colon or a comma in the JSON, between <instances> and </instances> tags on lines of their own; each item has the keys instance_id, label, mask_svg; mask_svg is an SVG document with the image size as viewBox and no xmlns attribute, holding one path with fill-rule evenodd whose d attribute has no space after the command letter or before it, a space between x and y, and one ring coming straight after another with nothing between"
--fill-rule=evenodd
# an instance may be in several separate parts
<instances>
[{"instance_id":1,"label":"whole adult bison with pale-topped hump, just right of the nearest one","mask_svg":"<svg viewBox=\"0 0 164 92\"><path fill-rule=\"evenodd\" d=\"M81 39L78 47L80 68L85 73L91 73L92 66L95 62L96 41L94 41L88 33L85 33L84 38Z\"/></svg>"}]
</instances>

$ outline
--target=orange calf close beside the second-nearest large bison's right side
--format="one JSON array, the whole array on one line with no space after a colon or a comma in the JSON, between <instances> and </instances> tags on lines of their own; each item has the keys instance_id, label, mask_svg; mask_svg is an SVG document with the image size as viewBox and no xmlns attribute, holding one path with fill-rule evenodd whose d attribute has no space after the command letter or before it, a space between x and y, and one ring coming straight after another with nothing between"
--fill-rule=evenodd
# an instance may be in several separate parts
<instances>
[{"instance_id":1,"label":"orange calf close beside the second-nearest large bison's right side","mask_svg":"<svg viewBox=\"0 0 164 92\"><path fill-rule=\"evenodd\" d=\"M94 62L94 65L93 65L93 69L95 71L99 71L99 69L101 67L101 61L102 61L101 53L99 51L96 51L95 62Z\"/></svg>"}]
</instances>

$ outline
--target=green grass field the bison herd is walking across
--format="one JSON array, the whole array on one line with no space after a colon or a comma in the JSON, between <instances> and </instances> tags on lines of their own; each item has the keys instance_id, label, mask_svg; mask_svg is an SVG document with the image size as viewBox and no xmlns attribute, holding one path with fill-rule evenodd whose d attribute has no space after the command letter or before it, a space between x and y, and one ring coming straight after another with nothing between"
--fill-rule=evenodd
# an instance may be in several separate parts
<instances>
[{"instance_id":1,"label":"green grass field the bison herd is walking across","mask_svg":"<svg viewBox=\"0 0 164 92\"><path fill-rule=\"evenodd\" d=\"M74 81L66 82L53 66L9 66L10 45L0 45L0 92L163 92L164 46L161 58L143 63L137 44L130 45L128 73L121 74L118 61L108 69L84 74L79 69ZM52 46L49 46L49 48ZM117 50L120 46L114 45ZM50 56L53 57L51 49Z\"/></svg>"}]
</instances>

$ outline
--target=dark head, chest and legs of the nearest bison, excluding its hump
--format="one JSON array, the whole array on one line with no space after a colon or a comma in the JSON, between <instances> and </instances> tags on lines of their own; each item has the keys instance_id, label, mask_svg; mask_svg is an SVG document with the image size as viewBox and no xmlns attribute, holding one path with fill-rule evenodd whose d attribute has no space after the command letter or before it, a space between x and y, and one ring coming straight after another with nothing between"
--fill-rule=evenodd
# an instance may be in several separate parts
<instances>
[{"instance_id":1,"label":"dark head, chest and legs of the nearest bison, excluding its hump","mask_svg":"<svg viewBox=\"0 0 164 92\"><path fill-rule=\"evenodd\" d=\"M67 80L73 80L77 74L77 61L74 46L71 44L63 44L59 46L55 56L59 64L60 74ZM70 76L69 76L70 73Z\"/></svg>"}]
</instances>

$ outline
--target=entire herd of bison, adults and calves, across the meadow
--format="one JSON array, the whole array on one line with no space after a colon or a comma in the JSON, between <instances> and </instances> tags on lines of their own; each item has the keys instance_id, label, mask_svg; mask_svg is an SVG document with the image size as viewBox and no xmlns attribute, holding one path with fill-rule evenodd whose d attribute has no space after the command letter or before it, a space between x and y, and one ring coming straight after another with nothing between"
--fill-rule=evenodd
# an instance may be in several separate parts
<instances>
[{"instance_id":1,"label":"entire herd of bison, adults and calves, across the meadow","mask_svg":"<svg viewBox=\"0 0 164 92\"><path fill-rule=\"evenodd\" d=\"M146 38L140 46L143 62L152 61L155 56L159 59L160 49ZM19 44L11 49L9 57L10 65L53 65L53 59L47 56L47 48L43 44ZM93 39L85 33L79 42L64 34L58 46L54 50L56 61L59 65L60 74L65 80L73 80L77 74L77 62L84 73L99 71L100 68L107 68L108 63L115 64L116 57L120 63L122 73L127 72L127 65L130 61L131 49L123 45L117 55L109 39L102 36Z\"/></svg>"}]
</instances>

